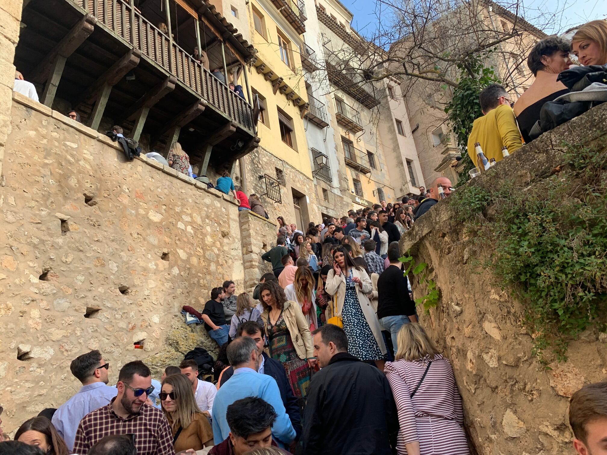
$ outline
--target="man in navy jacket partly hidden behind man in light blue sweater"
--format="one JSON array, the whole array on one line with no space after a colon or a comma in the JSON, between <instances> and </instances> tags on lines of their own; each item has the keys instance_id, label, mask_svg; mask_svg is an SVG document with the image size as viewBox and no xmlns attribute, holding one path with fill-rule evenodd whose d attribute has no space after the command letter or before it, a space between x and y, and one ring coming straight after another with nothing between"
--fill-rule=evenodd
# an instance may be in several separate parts
<instances>
[{"instance_id":1,"label":"man in navy jacket partly hidden behind man in light blue sweater","mask_svg":"<svg viewBox=\"0 0 607 455\"><path fill-rule=\"evenodd\" d=\"M257 343L257 349L263 357L262 362L259 364L259 372L276 379L280 390L280 398L282 398L282 403L285 405L285 409L287 409L291 425L293 425L296 433L295 440L298 440L302 433L301 413L299 411L299 402L293 394L291 383L287 379L285 367L278 360L271 359L271 357L268 357L268 354L263 352L263 329L256 321L243 322L236 332L236 337L241 336L251 337ZM219 386L221 387L233 374L234 368L230 366L223 372L219 380Z\"/></svg>"}]
</instances>

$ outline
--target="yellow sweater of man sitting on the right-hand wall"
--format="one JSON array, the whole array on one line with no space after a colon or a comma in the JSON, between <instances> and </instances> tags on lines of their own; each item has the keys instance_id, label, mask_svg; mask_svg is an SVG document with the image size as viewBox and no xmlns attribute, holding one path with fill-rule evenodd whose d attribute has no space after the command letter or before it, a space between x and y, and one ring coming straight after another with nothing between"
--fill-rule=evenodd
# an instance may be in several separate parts
<instances>
[{"instance_id":1,"label":"yellow sweater of man sitting on the right-hand wall","mask_svg":"<svg viewBox=\"0 0 607 455\"><path fill-rule=\"evenodd\" d=\"M487 115L477 118L472 126L472 132L468 138L468 155L476 167L483 166L476 163L476 152L474 143L480 143L487 160L495 158L501 161L501 147L506 146L508 153L512 154L523 146L521 133L518 130L514 111L507 104L500 104L490 110ZM481 169L479 167L479 169ZM482 169L481 169L482 170Z\"/></svg>"}]
</instances>

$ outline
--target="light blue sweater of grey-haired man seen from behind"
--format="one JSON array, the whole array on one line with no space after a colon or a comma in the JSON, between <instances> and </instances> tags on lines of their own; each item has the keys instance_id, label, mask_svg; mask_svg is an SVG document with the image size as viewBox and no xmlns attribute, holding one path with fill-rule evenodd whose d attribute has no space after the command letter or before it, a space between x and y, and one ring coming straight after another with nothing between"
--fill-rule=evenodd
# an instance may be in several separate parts
<instances>
[{"instance_id":1,"label":"light blue sweater of grey-haired man seen from behind","mask_svg":"<svg viewBox=\"0 0 607 455\"><path fill-rule=\"evenodd\" d=\"M234 375L217 391L213 403L213 436L215 445L223 442L229 435L226 411L236 400L246 397L259 397L273 406L278 415L272 425L272 436L277 443L288 445L295 439L295 430L291 419L280 398L276 379L267 374L259 374L251 368L237 368Z\"/></svg>"}]
</instances>

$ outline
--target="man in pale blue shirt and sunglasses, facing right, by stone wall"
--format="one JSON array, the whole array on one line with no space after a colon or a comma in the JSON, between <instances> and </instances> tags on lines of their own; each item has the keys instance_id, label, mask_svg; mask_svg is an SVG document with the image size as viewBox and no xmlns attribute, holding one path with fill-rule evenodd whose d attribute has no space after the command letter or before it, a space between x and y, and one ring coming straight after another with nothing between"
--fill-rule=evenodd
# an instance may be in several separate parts
<instances>
[{"instance_id":1,"label":"man in pale blue shirt and sunglasses, facing right, by stone wall","mask_svg":"<svg viewBox=\"0 0 607 455\"><path fill-rule=\"evenodd\" d=\"M70 370L82 383L82 387L67 402L59 406L52 420L59 436L66 441L70 451L73 449L80 420L86 414L107 405L118 393L115 387L107 385L108 369L109 363L97 350L82 354L70 363Z\"/></svg>"}]
</instances>

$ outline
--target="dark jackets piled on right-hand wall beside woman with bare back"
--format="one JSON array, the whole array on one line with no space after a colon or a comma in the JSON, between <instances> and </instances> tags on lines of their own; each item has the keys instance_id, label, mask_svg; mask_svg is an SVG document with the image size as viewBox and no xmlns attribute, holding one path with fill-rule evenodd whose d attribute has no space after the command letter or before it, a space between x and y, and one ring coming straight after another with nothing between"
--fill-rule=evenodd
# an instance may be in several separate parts
<instances>
[{"instance_id":1,"label":"dark jackets piled on right-hand wall beside woman with bare back","mask_svg":"<svg viewBox=\"0 0 607 455\"><path fill-rule=\"evenodd\" d=\"M607 65L574 67L561 72L557 81L571 92L544 103L529 132L532 140L607 101Z\"/></svg>"}]
</instances>

